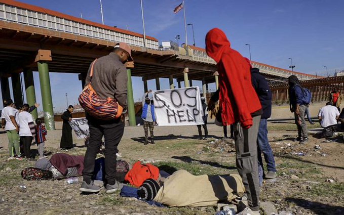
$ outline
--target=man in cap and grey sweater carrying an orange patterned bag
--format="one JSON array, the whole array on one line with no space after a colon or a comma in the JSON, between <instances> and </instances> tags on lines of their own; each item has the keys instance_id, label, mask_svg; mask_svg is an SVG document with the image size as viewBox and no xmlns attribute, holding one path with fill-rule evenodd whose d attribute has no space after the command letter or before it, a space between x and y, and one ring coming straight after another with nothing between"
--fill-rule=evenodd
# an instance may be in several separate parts
<instances>
[{"instance_id":1,"label":"man in cap and grey sweater carrying an orange patterned bag","mask_svg":"<svg viewBox=\"0 0 344 215\"><path fill-rule=\"evenodd\" d=\"M106 193L110 194L122 188L122 184L116 181L116 153L119 152L117 147L124 133L124 114L127 112L127 69L125 64L128 61L133 61L130 46L120 42L110 54L93 61L87 73L85 89L79 97L79 102L82 105L82 102L88 101L87 99L92 96L95 99L88 104L83 104L84 109L85 107L89 109L86 111L86 118L90 138L84 160L83 182L79 189L82 192L96 193L100 191L100 187L93 184L92 176L103 136L105 139L104 186ZM87 96L89 91L92 93ZM105 102L103 102L104 100ZM111 111L116 108L119 110L116 117L109 117L112 114ZM97 116L97 114L101 114L101 116Z\"/></svg>"}]
</instances>

